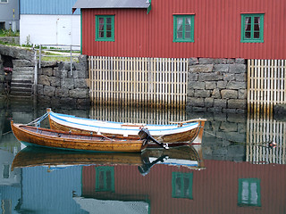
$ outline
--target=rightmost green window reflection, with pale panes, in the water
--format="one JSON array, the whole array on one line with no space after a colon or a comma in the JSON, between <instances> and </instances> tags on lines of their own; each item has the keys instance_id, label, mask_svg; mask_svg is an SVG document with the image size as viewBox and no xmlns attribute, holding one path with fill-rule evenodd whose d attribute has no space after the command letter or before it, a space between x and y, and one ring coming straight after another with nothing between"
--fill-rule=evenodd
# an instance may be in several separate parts
<instances>
[{"instance_id":1,"label":"rightmost green window reflection, with pale panes, in the water","mask_svg":"<svg viewBox=\"0 0 286 214\"><path fill-rule=\"evenodd\" d=\"M260 207L260 179L239 179L239 205Z\"/></svg>"}]
</instances>

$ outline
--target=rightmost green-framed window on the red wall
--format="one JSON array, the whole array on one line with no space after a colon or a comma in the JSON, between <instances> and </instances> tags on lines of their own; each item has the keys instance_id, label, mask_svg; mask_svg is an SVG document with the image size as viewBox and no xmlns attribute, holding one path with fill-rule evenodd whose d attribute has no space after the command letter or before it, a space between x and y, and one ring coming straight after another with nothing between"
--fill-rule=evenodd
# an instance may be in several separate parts
<instances>
[{"instance_id":1,"label":"rightmost green-framed window on the red wall","mask_svg":"<svg viewBox=\"0 0 286 214\"><path fill-rule=\"evenodd\" d=\"M241 14L241 42L264 42L264 14Z\"/></svg>"}]
</instances>

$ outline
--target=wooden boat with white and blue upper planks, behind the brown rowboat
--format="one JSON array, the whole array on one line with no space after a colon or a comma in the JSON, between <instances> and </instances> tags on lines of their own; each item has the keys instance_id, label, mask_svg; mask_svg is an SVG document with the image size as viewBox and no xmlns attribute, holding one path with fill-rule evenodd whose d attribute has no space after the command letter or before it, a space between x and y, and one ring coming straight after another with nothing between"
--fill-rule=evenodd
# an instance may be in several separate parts
<instances>
[{"instance_id":1,"label":"wooden boat with white and blue upper planks, behind the brown rowboat","mask_svg":"<svg viewBox=\"0 0 286 214\"><path fill-rule=\"evenodd\" d=\"M192 143L202 137L206 119L190 119L172 122L170 125L147 125L78 118L55 113L47 109L50 128L85 134L97 133L105 136L138 136L139 128L147 128L158 142L181 145Z\"/></svg>"}]
</instances>

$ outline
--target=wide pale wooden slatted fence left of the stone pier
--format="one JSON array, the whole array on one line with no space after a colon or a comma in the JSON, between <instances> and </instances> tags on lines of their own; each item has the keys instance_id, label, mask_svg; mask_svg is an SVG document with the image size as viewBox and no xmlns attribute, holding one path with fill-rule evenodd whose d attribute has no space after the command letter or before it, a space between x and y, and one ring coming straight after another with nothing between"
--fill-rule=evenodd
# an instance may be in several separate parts
<instances>
[{"instance_id":1,"label":"wide pale wooden slatted fence left of the stone pier","mask_svg":"<svg viewBox=\"0 0 286 214\"><path fill-rule=\"evenodd\" d=\"M187 59L91 56L88 62L94 103L185 106Z\"/></svg>"}]
</instances>

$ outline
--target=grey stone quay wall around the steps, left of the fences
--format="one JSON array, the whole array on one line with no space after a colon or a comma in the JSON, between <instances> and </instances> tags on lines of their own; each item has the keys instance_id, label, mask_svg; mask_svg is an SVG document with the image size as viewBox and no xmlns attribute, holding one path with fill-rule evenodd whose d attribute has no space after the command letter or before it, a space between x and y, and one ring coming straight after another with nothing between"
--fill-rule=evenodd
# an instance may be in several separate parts
<instances>
[{"instance_id":1,"label":"grey stone quay wall around the steps, left of the fences","mask_svg":"<svg viewBox=\"0 0 286 214\"><path fill-rule=\"evenodd\" d=\"M13 58L13 72L34 70L32 49L0 45L0 80L4 78L2 55ZM78 62L72 62L72 70L71 62L41 62L41 69L38 69L38 102L55 107L62 105L85 107L90 104L88 91L86 55L80 55Z\"/></svg>"}]
</instances>

